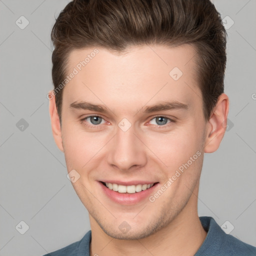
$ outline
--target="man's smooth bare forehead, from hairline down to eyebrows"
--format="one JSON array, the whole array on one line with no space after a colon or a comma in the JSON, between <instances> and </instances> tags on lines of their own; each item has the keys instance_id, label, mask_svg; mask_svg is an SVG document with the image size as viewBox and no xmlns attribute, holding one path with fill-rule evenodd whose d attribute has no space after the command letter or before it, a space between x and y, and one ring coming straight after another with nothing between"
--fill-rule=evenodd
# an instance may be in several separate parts
<instances>
[{"instance_id":1,"label":"man's smooth bare forehead, from hairline down to eyebrows","mask_svg":"<svg viewBox=\"0 0 256 256\"><path fill-rule=\"evenodd\" d=\"M63 101L102 104L100 99L104 99L108 104L122 103L123 108L139 108L159 99L187 104L201 101L195 52L188 44L132 46L122 54L102 47L73 50L67 75L76 74L65 86Z\"/></svg>"}]
</instances>

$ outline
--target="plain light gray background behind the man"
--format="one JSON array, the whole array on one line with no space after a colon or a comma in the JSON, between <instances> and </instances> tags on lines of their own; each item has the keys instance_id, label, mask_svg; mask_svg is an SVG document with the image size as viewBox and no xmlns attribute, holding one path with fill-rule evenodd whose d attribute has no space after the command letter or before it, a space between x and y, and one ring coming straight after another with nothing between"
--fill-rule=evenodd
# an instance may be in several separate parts
<instances>
[{"instance_id":1,"label":"plain light gray background behind the man","mask_svg":"<svg viewBox=\"0 0 256 256\"><path fill-rule=\"evenodd\" d=\"M50 30L67 3L0 0L1 256L42 255L90 229L54 143L46 98L53 87ZM256 246L256 1L214 4L226 26L234 22L227 29L229 125L219 149L204 154L198 212L219 225L228 220L234 226L230 234ZM29 21L24 29L15 23L21 15ZM29 226L24 234L22 220Z\"/></svg>"}]
</instances>

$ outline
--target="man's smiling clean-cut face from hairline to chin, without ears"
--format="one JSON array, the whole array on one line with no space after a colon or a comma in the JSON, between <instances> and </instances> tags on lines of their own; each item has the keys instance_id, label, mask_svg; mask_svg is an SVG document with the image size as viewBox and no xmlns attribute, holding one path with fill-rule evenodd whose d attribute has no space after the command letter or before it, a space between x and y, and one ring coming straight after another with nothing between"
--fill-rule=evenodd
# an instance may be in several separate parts
<instances>
[{"instance_id":1,"label":"man's smiling clean-cut face from hairline to chin, without ears","mask_svg":"<svg viewBox=\"0 0 256 256\"><path fill-rule=\"evenodd\" d=\"M97 49L81 70L77 64L94 48L72 51L69 58L68 73L74 67L78 73L63 90L67 170L80 175L72 185L94 225L115 238L142 238L176 215L196 210L191 194L198 187L206 122L195 50L190 45L143 45L116 55ZM176 104L168 110L145 111L171 101ZM103 105L107 112L82 109L81 102ZM138 190L139 184L154 185L119 193L101 181L138 185Z\"/></svg>"}]
</instances>

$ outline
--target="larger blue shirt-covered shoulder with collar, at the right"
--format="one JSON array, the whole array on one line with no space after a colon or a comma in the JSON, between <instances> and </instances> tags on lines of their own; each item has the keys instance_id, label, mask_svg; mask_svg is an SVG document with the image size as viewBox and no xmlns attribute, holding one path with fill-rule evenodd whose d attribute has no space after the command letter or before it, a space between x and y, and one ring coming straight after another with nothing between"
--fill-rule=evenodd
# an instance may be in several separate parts
<instances>
[{"instance_id":1,"label":"larger blue shirt-covered shoulder with collar, at the right","mask_svg":"<svg viewBox=\"0 0 256 256\"><path fill-rule=\"evenodd\" d=\"M231 234L226 234L212 217L200 217L206 238L195 256L255 256L256 247L242 242Z\"/></svg>"}]
</instances>

